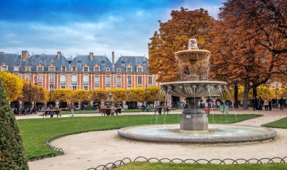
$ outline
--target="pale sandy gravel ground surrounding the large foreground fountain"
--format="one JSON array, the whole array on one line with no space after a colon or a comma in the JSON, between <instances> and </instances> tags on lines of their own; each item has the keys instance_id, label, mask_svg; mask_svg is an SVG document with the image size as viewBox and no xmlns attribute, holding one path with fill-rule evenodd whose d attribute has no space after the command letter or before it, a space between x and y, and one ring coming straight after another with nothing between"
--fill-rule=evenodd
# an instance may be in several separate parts
<instances>
[{"instance_id":1,"label":"pale sandy gravel ground surrounding the large foreground fountain","mask_svg":"<svg viewBox=\"0 0 287 170\"><path fill-rule=\"evenodd\" d=\"M176 113L176 111L173 111ZM217 111L216 111L217 113ZM250 119L237 124L261 125L287 117L287 111L236 111L236 113L261 113L264 117ZM276 129L274 140L244 145L198 145L162 144L131 141L121 138L117 130L89 132L66 136L52 142L63 148L65 154L29 162L30 170L86 170L91 167L129 157L181 158L181 159L225 159L263 158L287 156L287 129Z\"/></svg>"}]
</instances>

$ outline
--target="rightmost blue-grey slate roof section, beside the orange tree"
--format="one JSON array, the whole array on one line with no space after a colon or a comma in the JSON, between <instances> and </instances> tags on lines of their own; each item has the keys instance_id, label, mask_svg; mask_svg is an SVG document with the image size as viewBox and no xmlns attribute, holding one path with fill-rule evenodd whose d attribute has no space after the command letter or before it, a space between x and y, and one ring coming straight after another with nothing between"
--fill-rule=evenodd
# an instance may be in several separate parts
<instances>
[{"instance_id":1,"label":"rightmost blue-grey slate roof section, beside the orange tree","mask_svg":"<svg viewBox=\"0 0 287 170\"><path fill-rule=\"evenodd\" d=\"M132 71L136 72L137 66L143 66L143 72L147 72L148 59L144 56L121 56L115 63L114 69L121 68L121 72L126 72L126 66L131 65Z\"/></svg>"}]
</instances>

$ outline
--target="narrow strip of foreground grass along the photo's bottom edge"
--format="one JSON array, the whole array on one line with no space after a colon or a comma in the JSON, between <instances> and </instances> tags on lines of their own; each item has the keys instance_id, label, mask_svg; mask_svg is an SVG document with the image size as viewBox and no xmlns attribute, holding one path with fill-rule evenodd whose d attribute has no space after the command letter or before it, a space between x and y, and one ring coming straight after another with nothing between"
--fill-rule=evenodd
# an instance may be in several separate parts
<instances>
[{"instance_id":1,"label":"narrow strip of foreground grass along the photo's bottom edge","mask_svg":"<svg viewBox=\"0 0 287 170\"><path fill-rule=\"evenodd\" d=\"M132 162L125 164L116 170L287 170L287 164L269 163L217 165Z\"/></svg>"}]
</instances>

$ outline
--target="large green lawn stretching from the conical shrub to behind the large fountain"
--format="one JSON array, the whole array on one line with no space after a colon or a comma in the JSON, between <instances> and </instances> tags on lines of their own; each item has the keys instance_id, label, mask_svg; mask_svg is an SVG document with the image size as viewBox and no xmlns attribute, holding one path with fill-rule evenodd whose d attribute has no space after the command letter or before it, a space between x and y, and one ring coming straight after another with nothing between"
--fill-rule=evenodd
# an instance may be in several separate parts
<instances>
[{"instance_id":1,"label":"large green lawn stretching from the conical shrub to behind the large fountain","mask_svg":"<svg viewBox=\"0 0 287 170\"><path fill-rule=\"evenodd\" d=\"M158 115L158 123L163 124L163 116ZM256 114L237 115L238 121L258 117ZM209 115L209 122L213 123L213 116ZM235 115L214 115L215 123L236 121ZM109 117L73 117L61 119L19 119L17 120L23 139L27 157L51 152L45 146L48 138L68 132L83 130L97 130L104 128L122 128L134 125L155 124L155 116L151 122L151 115L123 115ZM166 123L179 123L179 115L166 115Z\"/></svg>"}]
</instances>

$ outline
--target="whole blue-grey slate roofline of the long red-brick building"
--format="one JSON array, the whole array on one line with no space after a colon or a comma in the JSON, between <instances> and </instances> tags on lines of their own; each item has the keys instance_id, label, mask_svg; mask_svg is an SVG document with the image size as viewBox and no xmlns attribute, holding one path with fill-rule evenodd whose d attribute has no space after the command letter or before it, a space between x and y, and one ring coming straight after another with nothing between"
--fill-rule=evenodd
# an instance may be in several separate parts
<instances>
[{"instance_id":1,"label":"whole blue-grey slate roofline of the long red-brick building","mask_svg":"<svg viewBox=\"0 0 287 170\"><path fill-rule=\"evenodd\" d=\"M80 61L80 63L78 63L78 61ZM57 72L61 71L61 66L66 66L66 71L71 71L72 66L76 66L77 72L81 72L82 67L85 64L89 65L90 72L93 72L93 67L96 64L100 65L101 72L105 72L106 68L110 68L110 70L113 70L114 72L116 72L117 68L121 68L121 72L126 72L127 65L132 66L131 72L136 72L136 68L138 65L143 66L142 72L147 72L148 67L148 59L144 56L121 56L116 61L114 67L112 67L112 63L110 62L108 57L103 55L94 55L93 60L90 60L89 55L77 55L75 58L73 58L71 62L63 55L61 55L60 59L58 59L57 55L36 54L30 56L27 61L24 61L23 59L21 59L21 56L19 54L0 52L0 64L2 63L8 64L8 71L13 71L15 66L18 66L20 68L20 71L25 71L26 66L31 66L31 70L36 71L37 64L44 65L43 71L48 71L49 65L54 64L56 67L55 71Z\"/></svg>"}]
</instances>

